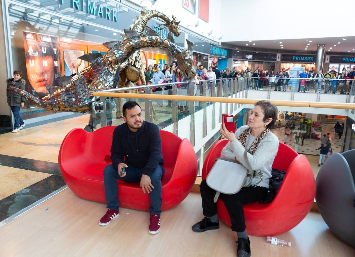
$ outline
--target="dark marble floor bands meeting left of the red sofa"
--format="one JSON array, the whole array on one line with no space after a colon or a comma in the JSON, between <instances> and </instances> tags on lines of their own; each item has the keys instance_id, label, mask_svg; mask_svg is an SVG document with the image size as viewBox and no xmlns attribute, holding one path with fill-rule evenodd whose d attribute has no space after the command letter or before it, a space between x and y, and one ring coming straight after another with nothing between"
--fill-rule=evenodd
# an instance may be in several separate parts
<instances>
[{"instance_id":1,"label":"dark marble floor bands meeting left of the red sofa","mask_svg":"<svg viewBox=\"0 0 355 257\"><path fill-rule=\"evenodd\" d=\"M0 154L0 164L8 167L52 174L51 176L0 200L0 221L21 211L65 185L58 163L55 162L32 160Z\"/></svg>"}]
</instances>

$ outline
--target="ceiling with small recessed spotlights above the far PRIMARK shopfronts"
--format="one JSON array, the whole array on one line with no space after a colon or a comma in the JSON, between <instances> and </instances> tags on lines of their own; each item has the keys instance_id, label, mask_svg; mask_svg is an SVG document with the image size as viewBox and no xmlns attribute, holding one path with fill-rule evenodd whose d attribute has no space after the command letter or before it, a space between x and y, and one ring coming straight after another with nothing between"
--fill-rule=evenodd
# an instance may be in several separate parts
<instances>
[{"instance_id":1,"label":"ceiling with small recessed spotlights above the far PRIMARK shopfronts","mask_svg":"<svg viewBox=\"0 0 355 257\"><path fill-rule=\"evenodd\" d=\"M280 44L280 42L282 43ZM340 44L338 44L338 42L340 42ZM318 44L324 44L326 45L325 52L328 53L344 52L353 55L355 54L355 50L353 50L355 49L355 36L348 36L343 38L337 37L337 38L277 39L277 40L260 40L260 41L253 40L252 42L234 41L234 42L223 42L223 43L225 44L225 46L227 46L227 44L230 44L230 45L245 46L245 47L267 48L267 49L275 49L275 50L295 50L295 51L305 51L305 52L316 51ZM246 44L248 44L248 46ZM331 47L332 49L330 49ZM305 50L305 48L307 48L307 50ZM350 52L348 52L349 50Z\"/></svg>"}]
</instances>

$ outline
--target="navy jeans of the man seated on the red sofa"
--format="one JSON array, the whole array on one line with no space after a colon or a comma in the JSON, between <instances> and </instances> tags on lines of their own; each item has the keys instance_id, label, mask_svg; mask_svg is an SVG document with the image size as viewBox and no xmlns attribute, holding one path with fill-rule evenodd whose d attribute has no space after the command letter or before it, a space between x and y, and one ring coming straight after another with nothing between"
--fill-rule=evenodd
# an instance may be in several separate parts
<instances>
[{"instance_id":1,"label":"navy jeans of the man seated on the red sofa","mask_svg":"<svg viewBox=\"0 0 355 257\"><path fill-rule=\"evenodd\" d=\"M109 164L104 169L104 187L105 187L105 198L107 201L107 208L118 211L119 201L118 201L118 185L116 179L126 181L129 183L140 182L143 174L142 169L137 169L127 164L126 176L121 178L118 175L118 170L112 164ZM151 178L151 183L154 187L152 192L149 193L149 200L151 201L151 206L149 207L149 214L152 212L160 215L162 212L162 178L164 176L164 168L158 165L155 169ZM147 193L146 193L147 194Z\"/></svg>"}]
</instances>

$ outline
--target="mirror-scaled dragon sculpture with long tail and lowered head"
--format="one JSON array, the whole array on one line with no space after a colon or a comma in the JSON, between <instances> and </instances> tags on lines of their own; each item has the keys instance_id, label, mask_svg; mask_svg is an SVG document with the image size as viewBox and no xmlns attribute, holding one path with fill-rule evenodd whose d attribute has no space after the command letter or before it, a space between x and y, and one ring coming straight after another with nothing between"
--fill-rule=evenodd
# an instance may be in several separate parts
<instances>
[{"instance_id":1,"label":"mirror-scaled dragon sculpture with long tail and lowered head","mask_svg":"<svg viewBox=\"0 0 355 257\"><path fill-rule=\"evenodd\" d=\"M72 77L57 78L62 87L47 86L49 95L43 98L38 98L15 87L9 87L9 90L19 93L29 103L51 112L85 113L90 111L92 115L90 106L96 98L90 96L89 91L112 88L118 67L143 47L162 47L170 51L177 59L186 78L193 78L196 75L192 65L192 42L187 40L189 48L180 51L172 36L166 39L150 28L146 28L146 31L146 34L139 34L132 30L125 30L126 37L122 41L104 43L109 48L106 53L88 53L81 56L80 59L89 62L90 65ZM92 129L90 122L89 127Z\"/></svg>"}]
</instances>

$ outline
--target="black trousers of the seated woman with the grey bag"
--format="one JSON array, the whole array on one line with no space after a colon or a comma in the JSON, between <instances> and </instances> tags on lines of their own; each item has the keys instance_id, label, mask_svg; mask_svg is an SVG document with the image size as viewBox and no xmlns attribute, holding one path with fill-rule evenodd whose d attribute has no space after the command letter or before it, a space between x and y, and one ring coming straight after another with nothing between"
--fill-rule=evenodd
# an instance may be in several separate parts
<instances>
[{"instance_id":1,"label":"black trousers of the seated woman with the grey bag","mask_svg":"<svg viewBox=\"0 0 355 257\"><path fill-rule=\"evenodd\" d=\"M229 213L232 230L243 232L245 230L245 219L243 204L260 201L265 198L267 193L265 187L243 187L234 195L221 194L224 205ZM217 204L213 202L216 191L208 187L206 180L200 184L200 192L202 198L202 213L206 217L211 217L217 214Z\"/></svg>"}]
</instances>

